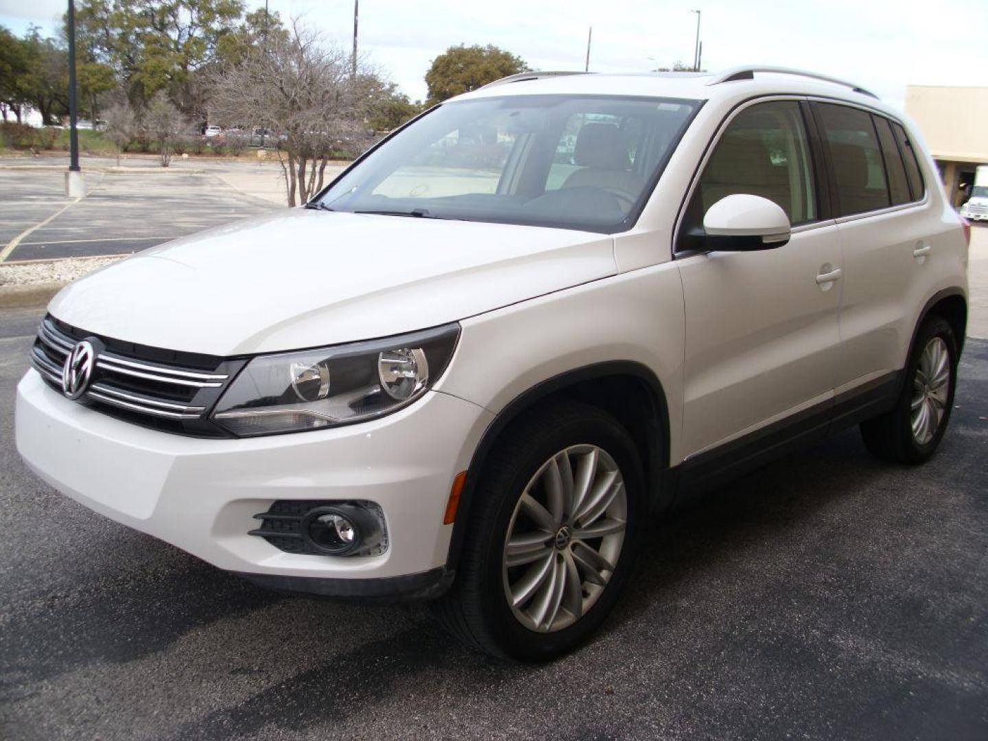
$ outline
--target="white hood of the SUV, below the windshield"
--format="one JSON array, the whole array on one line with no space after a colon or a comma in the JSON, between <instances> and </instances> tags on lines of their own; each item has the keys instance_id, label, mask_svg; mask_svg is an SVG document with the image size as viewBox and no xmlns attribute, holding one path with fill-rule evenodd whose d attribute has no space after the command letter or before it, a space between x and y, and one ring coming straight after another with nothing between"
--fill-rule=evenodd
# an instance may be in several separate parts
<instances>
[{"instance_id":1,"label":"white hood of the SUV, below the windshield","mask_svg":"<svg viewBox=\"0 0 988 741\"><path fill-rule=\"evenodd\" d=\"M49 311L94 334L208 355L425 329L615 275L613 238L294 208L139 252Z\"/></svg>"}]
</instances>

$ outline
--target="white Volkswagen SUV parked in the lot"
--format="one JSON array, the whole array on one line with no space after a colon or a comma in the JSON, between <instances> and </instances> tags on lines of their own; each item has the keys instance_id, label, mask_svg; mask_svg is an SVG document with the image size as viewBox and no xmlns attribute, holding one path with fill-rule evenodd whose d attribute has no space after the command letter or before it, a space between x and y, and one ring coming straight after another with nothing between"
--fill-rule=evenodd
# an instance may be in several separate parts
<instances>
[{"instance_id":1,"label":"white Volkswagen SUV parked in the lot","mask_svg":"<svg viewBox=\"0 0 988 741\"><path fill-rule=\"evenodd\" d=\"M525 74L303 208L63 289L17 444L220 568L430 599L468 643L545 659L690 492L850 425L934 453L966 266L915 128L864 90Z\"/></svg>"}]
</instances>

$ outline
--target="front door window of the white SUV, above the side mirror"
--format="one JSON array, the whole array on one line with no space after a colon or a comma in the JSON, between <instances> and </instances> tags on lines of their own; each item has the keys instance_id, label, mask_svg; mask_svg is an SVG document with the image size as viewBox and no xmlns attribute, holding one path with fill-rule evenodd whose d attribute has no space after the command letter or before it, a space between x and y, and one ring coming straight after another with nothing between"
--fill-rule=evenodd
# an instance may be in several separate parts
<instances>
[{"instance_id":1,"label":"front door window of the white SUV, above the side mirror","mask_svg":"<svg viewBox=\"0 0 988 741\"><path fill-rule=\"evenodd\" d=\"M798 103L761 103L727 125L700 175L685 231L702 224L707 208L735 194L762 196L779 204L793 224L817 217L809 145Z\"/></svg>"}]
</instances>

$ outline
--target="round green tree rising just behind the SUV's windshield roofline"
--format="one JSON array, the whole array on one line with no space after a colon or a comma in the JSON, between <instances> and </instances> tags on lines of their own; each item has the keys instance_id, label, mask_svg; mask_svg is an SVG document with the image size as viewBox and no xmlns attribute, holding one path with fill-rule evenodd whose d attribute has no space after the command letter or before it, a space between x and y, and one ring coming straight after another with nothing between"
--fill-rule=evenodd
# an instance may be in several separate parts
<instances>
[{"instance_id":1,"label":"round green tree rising just behind the SUV's windshield roofline","mask_svg":"<svg viewBox=\"0 0 988 741\"><path fill-rule=\"evenodd\" d=\"M437 56L426 72L427 105L476 90L494 80L529 71L525 60L497 46L451 46Z\"/></svg>"}]
</instances>

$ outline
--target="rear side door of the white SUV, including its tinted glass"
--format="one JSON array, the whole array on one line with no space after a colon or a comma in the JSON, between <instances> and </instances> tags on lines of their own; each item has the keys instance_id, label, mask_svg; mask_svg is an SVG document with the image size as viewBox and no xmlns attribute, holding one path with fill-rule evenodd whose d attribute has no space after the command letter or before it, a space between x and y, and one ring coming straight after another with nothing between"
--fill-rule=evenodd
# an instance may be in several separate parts
<instances>
[{"instance_id":1,"label":"rear side door of the white SUV, including its tinted glass","mask_svg":"<svg viewBox=\"0 0 988 741\"><path fill-rule=\"evenodd\" d=\"M841 393L902 367L936 256L923 181L901 126L850 105L812 106L833 170L844 268Z\"/></svg>"}]
</instances>

